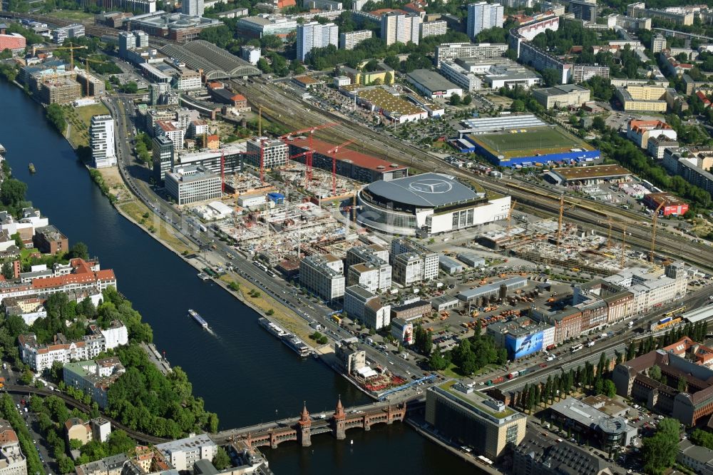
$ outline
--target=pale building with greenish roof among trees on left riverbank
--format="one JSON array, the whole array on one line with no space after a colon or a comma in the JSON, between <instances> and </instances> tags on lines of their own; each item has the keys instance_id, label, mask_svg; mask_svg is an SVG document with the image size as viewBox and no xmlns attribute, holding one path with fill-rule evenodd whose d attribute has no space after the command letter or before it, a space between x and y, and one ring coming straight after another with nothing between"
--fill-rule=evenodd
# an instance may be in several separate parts
<instances>
[{"instance_id":1,"label":"pale building with greenish roof among trees on left riverbank","mask_svg":"<svg viewBox=\"0 0 713 475\"><path fill-rule=\"evenodd\" d=\"M91 396L101 409L107 405L106 392L126 369L117 357L65 363L63 382Z\"/></svg>"}]
</instances>

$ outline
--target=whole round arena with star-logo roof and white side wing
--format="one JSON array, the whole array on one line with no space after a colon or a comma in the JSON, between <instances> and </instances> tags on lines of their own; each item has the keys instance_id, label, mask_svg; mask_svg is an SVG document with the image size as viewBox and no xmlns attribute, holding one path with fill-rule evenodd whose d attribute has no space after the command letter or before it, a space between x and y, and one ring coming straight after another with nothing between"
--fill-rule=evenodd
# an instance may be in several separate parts
<instances>
[{"instance_id":1,"label":"whole round arena with star-logo roof and white side wing","mask_svg":"<svg viewBox=\"0 0 713 475\"><path fill-rule=\"evenodd\" d=\"M487 200L453 176L424 173L379 180L357 195L356 220L371 230L421 237L508 217L510 197Z\"/></svg>"}]
</instances>

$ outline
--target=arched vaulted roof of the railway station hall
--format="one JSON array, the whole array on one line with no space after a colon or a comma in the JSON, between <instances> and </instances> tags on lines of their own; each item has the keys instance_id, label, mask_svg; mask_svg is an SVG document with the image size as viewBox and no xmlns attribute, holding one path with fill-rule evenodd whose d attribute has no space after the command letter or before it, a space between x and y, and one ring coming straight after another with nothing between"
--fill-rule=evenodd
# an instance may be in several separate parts
<instances>
[{"instance_id":1,"label":"arched vaulted roof of the railway station hall","mask_svg":"<svg viewBox=\"0 0 713 475\"><path fill-rule=\"evenodd\" d=\"M183 61L190 68L202 69L206 79L227 79L256 76L260 69L204 40L189 41L184 45L167 44L161 48L166 56Z\"/></svg>"}]
</instances>

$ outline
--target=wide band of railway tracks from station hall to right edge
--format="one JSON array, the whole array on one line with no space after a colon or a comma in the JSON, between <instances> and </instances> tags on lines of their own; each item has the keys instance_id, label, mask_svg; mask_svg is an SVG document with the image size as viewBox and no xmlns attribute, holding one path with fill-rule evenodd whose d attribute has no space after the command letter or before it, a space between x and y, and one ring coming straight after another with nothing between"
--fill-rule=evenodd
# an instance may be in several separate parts
<instances>
[{"instance_id":1,"label":"wide band of railway tracks from station hall to right edge","mask_svg":"<svg viewBox=\"0 0 713 475\"><path fill-rule=\"evenodd\" d=\"M559 213L560 195L548 190L548 188L516 180L496 180L484 175L466 172L443 162L443 160L424 152L424 150L414 145L404 143L404 141L391 137L386 133L376 132L363 123L356 123L339 113L323 111L311 103L299 101L293 96L289 96L286 91L282 91L281 88L272 83L266 83L260 78L254 78L251 83L242 83L240 81L232 81L232 83L234 86L247 91L246 96L249 98L248 101L250 101L251 106L254 108L262 106L263 116L271 118L273 121L287 123L290 120L299 118L299 124L301 124L299 128L337 121L339 126L329 128L326 131L317 131L315 135L324 137L329 141L352 139L358 145L361 145L361 148L365 151L368 150L375 155L387 156L390 160L413 165L421 170L443 171L445 168L448 173L458 178L475 181L486 190L511 195L518 200L518 203L534 206L553 215ZM287 123L287 125L294 124ZM533 196L533 191L535 191L536 197ZM602 210L597 210L596 207L600 205L595 205L590 200L580 198L567 197L565 201L570 205L577 205L574 209L565 209L565 218L570 221L585 224L588 228L605 235L608 233L607 218L616 216L617 219L627 223L627 243L636 245L645 251L650 250L650 217L637 215L611 206L602 206ZM642 221L648 224L642 225ZM612 239L620 241L622 231L623 224L619 221L612 221ZM631 235L628 235L628 233L631 233ZM688 252L686 252L684 260L707 270L713 270L711 247L693 242L687 237L668 233L662 228L657 229L656 237L657 253L682 259L681 250L685 248Z\"/></svg>"}]
</instances>

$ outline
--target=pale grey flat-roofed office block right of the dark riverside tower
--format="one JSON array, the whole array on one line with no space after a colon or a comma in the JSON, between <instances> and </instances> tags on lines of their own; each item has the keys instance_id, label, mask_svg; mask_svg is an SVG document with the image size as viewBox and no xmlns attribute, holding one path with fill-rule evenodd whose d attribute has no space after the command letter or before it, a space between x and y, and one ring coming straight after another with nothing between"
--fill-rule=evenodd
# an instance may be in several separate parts
<instances>
[{"instance_id":1,"label":"pale grey flat-roofed office block right of the dark riverside tower","mask_svg":"<svg viewBox=\"0 0 713 475\"><path fill-rule=\"evenodd\" d=\"M174 168L165 174L165 189L178 205L215 200L222 195L220 175L200 166Z\"/></svg>"}]
</instances>

